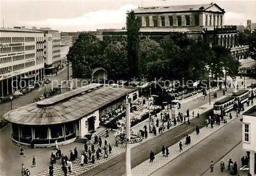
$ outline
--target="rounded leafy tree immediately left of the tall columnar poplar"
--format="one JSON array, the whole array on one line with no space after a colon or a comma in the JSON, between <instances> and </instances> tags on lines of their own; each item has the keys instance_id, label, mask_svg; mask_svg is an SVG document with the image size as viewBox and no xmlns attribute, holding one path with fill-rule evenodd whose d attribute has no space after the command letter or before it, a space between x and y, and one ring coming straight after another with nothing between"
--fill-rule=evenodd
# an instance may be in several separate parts
<instances>
[{"instance_id":1,"label":"rounded leafy tree immediately left of the tall columnar poplar","mask_svg":"<svg viewBox=\"0 0 256 176\"><path fill-rule=\"evenodd\" d=\"M110 43L104 50L103 68L111 80L126 80L127 52L120 43Z\"/></svg>"}]
</instances>

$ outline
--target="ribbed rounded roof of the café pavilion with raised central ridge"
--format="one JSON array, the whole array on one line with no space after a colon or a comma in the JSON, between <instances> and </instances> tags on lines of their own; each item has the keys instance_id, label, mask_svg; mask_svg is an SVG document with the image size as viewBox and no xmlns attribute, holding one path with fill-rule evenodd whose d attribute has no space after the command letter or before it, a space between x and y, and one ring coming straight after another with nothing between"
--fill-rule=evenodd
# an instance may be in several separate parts
<instances>
[{"instance_id":1,"label":"ribbed rounded roof of the caf\u00e9 pavilion with raised central ridge","mask_svg":"<svg viewBox=\"0 0 256 176\"><path fill-rule=\"evenodd\" d=\"M6 113L4 119L22 125L51 125L71 122L136 90L137 88L134 87L113 87L93 83L53 98L19 107Z\"/></svg>"}]
</instances>

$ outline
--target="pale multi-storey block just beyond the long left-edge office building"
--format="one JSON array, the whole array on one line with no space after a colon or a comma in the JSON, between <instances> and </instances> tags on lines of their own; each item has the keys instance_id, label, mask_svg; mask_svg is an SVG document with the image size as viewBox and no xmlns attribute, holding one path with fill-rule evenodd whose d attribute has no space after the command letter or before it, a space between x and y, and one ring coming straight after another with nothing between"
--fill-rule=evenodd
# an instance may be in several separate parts
<instances>
[{"instance_id":1,"label":"pale multi-storey block just beyond the long left-edge office building","mask_svg":"<svg viewBox=\"0 0 256 176\"><path fill-rule=\"evenodd\" d=\"M62 68L60 59L60 33L51 28L35 29L45 33L45 74L53 74Z\"/></svg>"}]
</instances>

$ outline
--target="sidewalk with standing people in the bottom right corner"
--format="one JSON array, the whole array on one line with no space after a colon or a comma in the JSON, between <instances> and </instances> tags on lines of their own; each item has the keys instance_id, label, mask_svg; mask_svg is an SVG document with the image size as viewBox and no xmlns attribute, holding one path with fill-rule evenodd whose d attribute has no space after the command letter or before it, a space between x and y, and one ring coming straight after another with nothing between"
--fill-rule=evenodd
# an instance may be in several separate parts
<instances>
[{"instance_id":1,"label":"sidewalk with standing people in the bottom right corner","mask_svg":"<svg viewBox=\"0 0 256 176\"><path fill-rule=\"evenodd\" d=\"M233 148L229 153L227 153L226 156L224 156L221 159L225 163L225 170L223 172L221 172L221 170L220 170L220 161L221 160L220 160L214 165L214 174L221 175L221 176L230 175L229 170L227 168L227 164L228 164L228 160L231 158L233 162L237 162L237 164L238 164L238 173L234 174L234 175L247 176L248 171L240 170L240 168L242 167L241 158L243 156L245 157L245 156L247 156L247 154L246 154L246 151L242 150L242 142L241 142L239 145L237 145L235 148ZM209 173L210 173L210 169L207 170L204 174L202 174L202 176L212 175Z\"/></svg>"}]
</instances>

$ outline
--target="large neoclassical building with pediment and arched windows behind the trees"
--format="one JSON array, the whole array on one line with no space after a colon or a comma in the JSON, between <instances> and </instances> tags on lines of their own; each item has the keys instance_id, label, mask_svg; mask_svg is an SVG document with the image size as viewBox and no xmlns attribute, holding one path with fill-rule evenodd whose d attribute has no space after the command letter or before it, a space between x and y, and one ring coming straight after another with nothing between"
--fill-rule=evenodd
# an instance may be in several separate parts
<instances>
[{"instance_id":1,"label":"large neoclassical building with pediment and arched windows behind the trees","mask_svg":"<svg viewBox=\"0 0 256 176\"><path fill-rule=\"evenodd\" d=\"M224 26L224 9L217 4L141 7L134 10L139 19L141 38L160 40L166 35L182 32L203 36L210 45L230 49L233 57L247 58L248 46L239 45L237 26ZM103 32L107 42L126 42L126 29Z\"/></svg>"}]
</instances>

